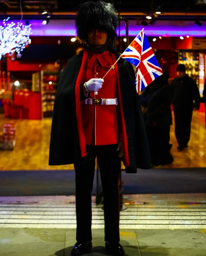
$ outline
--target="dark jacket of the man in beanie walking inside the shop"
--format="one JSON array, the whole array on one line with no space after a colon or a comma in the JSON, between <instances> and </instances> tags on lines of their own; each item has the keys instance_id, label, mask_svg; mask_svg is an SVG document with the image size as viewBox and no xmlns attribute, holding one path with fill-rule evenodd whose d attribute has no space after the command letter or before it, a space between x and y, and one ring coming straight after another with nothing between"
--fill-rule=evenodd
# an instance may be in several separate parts
<instances>
[{"instance_id":1,"label":"dark jacket of the man in beanie walking inside the shop","mask_svg":"<svg viewBox=\"0 0 206 256\"><path fill-rule=\"evenodd\" d=\"M174 111L191 112L193 108L200 108L199 89L196 82L187 74L183 78L175 78L171 86L173 89Z\"/></svg>"}]
</instances>

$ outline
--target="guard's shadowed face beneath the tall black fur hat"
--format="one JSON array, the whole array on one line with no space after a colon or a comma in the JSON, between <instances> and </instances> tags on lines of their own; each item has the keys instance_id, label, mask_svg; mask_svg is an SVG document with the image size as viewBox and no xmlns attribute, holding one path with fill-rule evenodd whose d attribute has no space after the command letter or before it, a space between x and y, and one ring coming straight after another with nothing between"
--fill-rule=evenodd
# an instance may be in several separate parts
<instances>
[{"instance_id":1,"label":"guard's shadowed face beneath the tall black fur hat","mask_svg":"<svg viewBox=\"0 0 206 256\"><path fill-rule=\"evenodd\" d=\"M93 29L88 33L88 43L93 46L101 46L106 44L107 33L99 31L99 29Z\"/></svg>"}]
</instances>

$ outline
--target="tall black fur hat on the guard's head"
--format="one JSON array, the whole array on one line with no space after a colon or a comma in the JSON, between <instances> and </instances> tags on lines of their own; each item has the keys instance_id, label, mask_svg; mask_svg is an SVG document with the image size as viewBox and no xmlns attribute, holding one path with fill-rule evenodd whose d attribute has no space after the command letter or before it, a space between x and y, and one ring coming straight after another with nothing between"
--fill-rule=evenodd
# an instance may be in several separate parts
<instances>
[{"instance_id":1,"label":"tall black fur hat on the guard's head","mask_svg":"<svg viewBox=\"0 0 206 256\"><path fill-rule=\"evenodd\" d=\"M107 32L107 38L113 40L116 36L118 16L114 6L102 1L89 1L80 5L75 26L77 36L87 41L87 35L92 29Z\"/></svg>"}]
</instances>

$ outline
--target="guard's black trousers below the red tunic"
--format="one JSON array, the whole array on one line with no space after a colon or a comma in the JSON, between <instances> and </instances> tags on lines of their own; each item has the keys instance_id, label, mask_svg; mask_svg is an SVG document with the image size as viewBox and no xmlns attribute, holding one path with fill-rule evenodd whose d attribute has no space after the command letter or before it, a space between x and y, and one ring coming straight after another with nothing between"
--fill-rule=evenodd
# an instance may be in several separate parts
<instances>
[{"instance_id":1,"label":"guard's black trousers below the red tunic","mask_svg":"<svg viewBox=\"0 0 206 256\"><path fill-rule=\"evenodd\" d=\"M88 163L74 164L76 182L77 241L92 240L91 192L97 156L104 194L105 241L119 242L119 175L117 144L86 145Z\"/></svg>"}]
</instances>

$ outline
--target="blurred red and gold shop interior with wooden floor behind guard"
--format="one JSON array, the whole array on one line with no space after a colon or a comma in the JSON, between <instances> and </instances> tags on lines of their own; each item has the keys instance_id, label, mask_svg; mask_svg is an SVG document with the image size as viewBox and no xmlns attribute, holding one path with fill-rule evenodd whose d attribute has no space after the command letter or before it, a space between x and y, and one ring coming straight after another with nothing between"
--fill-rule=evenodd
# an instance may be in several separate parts
<instances>
[{"instance_id":1,"label":"blurred red and gold shop interior with wooden floor behind guard","mask_svg":"<svg viewBox=\"0 0 206 256\"><path fill-rule=\"evenodd\" d=\"M196 40L198 37L195 37ZM134 38L129 36L129 43ZM194 47L193 37L148 37L160 66L169 72L183 63L202 96L205 83L205 50ZM120 51L126 48L120 37ZM49 143L55 93L60 73L68 60L84 49L75 37L30 36L20 54L6 54L0 61L0 149L1 170L73 170L73 165L49 166ZM172 106L171 106L172 108ZM10 130L11 129L11 130ZM8 136L5 133L10 132ZM174 162L155 168L205 167L205 106L193 113L191 140L184 152L177 151L173 125L170 131ZM122 165L122 169L124 166Z\"/></svg>"}]
</instances>

